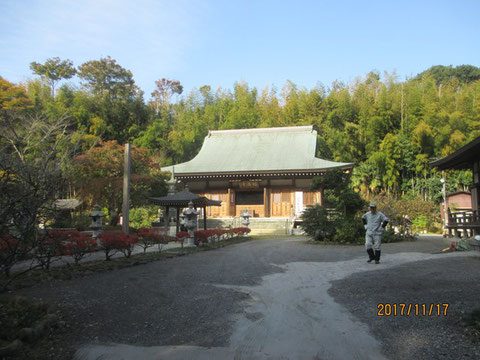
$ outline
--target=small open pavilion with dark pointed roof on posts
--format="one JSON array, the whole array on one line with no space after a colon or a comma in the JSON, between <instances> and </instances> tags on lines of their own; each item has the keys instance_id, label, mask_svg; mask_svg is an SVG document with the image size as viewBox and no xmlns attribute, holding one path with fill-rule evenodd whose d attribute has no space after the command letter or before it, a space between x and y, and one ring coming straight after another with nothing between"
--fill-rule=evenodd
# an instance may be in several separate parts
<instances>
[{"instance_id":1,"label":"small open pavilion with dark pointed roof on posts","mask_svg":"<svg viewBox=\"0 0 480 360\"><path fill-rule=\"evenodd\" d=\"M207 216L206 216L206 207L207 206L221 206L221 201L215 201L207 199L204 196L198 196L188 190L188 187L183 191L178 193L170 193L167 196L162 197L152 197L150 200L158 206L165 207L165 227L168 227L169 224L169 210L170 208L176 209L176 232L178 233L180 229L180 210L183 208L188 208L188 203L191 201L195 208L203 209L203 228L207 230Z\"/></svg>"}]
</instances>

